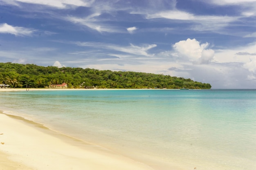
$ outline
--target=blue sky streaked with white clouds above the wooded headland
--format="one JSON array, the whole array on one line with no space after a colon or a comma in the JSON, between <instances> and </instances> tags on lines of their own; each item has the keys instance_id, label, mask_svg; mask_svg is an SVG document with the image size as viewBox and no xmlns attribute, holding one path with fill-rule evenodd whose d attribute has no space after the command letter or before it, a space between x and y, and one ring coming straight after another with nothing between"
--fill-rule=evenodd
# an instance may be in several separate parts
<instances>
[{"instance_id":1,"label":"blue sky streaked with white clouds above the wooded headland","mask_svg":"<svg viewBox=\"0 0 256 170\"><path fill-rule=\"evenodd\" d=\"M256 88L256 0L0 0L0 62Z\"/></svg>"}]
</instances>

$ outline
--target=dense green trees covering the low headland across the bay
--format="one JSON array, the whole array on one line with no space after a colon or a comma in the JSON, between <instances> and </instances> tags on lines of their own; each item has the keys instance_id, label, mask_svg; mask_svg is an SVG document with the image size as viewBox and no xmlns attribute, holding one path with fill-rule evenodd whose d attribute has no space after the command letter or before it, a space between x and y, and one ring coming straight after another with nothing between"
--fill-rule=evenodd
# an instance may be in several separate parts
<instances>
[{"instance_id":1,"label":"dense green trees covering the low headland across the bay","mask_svg":"<svg viewBox=\"0 0 256 170\"><path fill-rule=\"evenodd\" d=\"M12 88L46 88L64 82L69 88L211 88L210 84L169 75L0 63L0 84Z\"/></svg>"}]
</instances>

